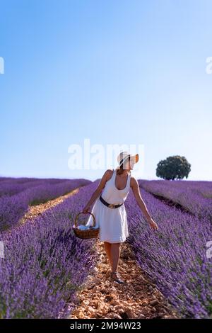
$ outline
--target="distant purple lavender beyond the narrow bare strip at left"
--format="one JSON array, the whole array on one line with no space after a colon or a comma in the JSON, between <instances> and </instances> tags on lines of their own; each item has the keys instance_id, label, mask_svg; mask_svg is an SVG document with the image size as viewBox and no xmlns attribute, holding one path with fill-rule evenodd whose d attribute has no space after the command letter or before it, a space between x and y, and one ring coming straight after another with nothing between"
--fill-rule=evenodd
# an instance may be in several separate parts
<instances>
[{"instance_id":1,"label":"distant purple lavender beyond the narrow bare strip at left","mask_svg":"<svg viewBox=\"0 0 212 333\"><path fill-rule=\"evenodd\" d=\"M38 203L45 203L51 199L62 196L73 189L85 186L91 183L86 179L70 179L70 180L37 180L26 181L27 188L23 191L19 191L16 194L13 193L12 188L17 186L25 186L25 182L16 184L16 181L1 181L6 182L6 186L10 189L10 194L4 194L0 198L0 231L6 230L9 227L15 226L20 218L27 212L29 205L36 205ZM8 182L8 183L7 183ZM30 186L29 184L30 183ZM33 186L31 183L35 184ZM28 188L29 186L29 188Z\"/></svg>"}]
</instances>

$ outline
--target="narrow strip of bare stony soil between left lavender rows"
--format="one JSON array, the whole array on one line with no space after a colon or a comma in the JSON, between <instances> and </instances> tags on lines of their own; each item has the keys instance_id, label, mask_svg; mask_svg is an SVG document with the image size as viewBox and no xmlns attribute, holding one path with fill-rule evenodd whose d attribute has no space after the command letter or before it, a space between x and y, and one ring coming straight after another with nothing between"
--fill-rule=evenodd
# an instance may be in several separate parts
<instances>
[{"instance_id":1,"label":"narrow strip of bare stony soil between left lavender rows","mask_svg":"<svg viewBox=\"0 0 212 333\"><path fill-rule=\"evenodd\" d=\"M32 220L38 215L41 215L45 210L51 209L52 207L58 205L69 196L78 193L80 187L75 188L73 191L64 194L64 196L59 196L58 198L47 201L47 203L40 203L40 205L29 206L28 211L23 215L23 218L19 220L20 224L25 223L26 220Z\"/></svg>"}]
</instances>

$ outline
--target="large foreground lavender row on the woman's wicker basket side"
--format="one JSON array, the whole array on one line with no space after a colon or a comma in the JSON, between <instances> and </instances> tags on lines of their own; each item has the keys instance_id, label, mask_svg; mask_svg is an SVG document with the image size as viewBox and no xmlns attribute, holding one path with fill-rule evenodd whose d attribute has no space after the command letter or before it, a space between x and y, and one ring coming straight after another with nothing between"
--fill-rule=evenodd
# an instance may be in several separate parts
<instances>
[{"instance_id":1,"label":"large foreground lavender row on the woman's wicker basket side","mask_svg":"<svg viewBox=\"0 0 212 333\"><path fill-rule=\"evenodd\" d=\"M0 233L0 318L64 318L73 310L97 254L93 239L78 239L72 225L96 186L81 187L34 223Z\"/></svg>"}]
</instances>

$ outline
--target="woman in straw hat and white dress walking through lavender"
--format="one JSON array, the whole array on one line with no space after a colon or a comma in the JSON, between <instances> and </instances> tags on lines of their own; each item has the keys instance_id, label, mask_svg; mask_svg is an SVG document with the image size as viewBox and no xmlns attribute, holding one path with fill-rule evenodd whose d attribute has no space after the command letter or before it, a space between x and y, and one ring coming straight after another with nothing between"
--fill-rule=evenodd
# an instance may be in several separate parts
<instances>
[{"instance_id":1,"label":"woman in straw hat and white dress walking through lavender","mask_svg":"<svg viewBox=\"0 0 212 333\"><path fill-rule=\"evenodd\" d=\"M95 201L91 213L95 216L96 223L100 227L100 242L104 242L105 252L110 261L110 276L114 281L124 283L117 269L120 245L129 236L124 201L128 196L130 188L151 228L158 229L158 225L149 215L146 205L141 198L138 181L131 176L134 164L139 161L139 154L131 155L128 152L121 152L117 160L119 166L117 166L117 169L107 169L105 171L98 188L83 208L83 213L90 212L90 205ZM90 215L86 225L93 225L92 215Z\"/></svg>"}]
</instances>

